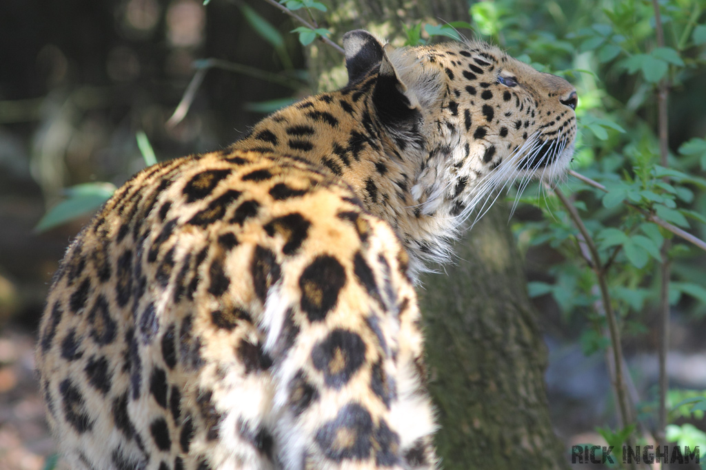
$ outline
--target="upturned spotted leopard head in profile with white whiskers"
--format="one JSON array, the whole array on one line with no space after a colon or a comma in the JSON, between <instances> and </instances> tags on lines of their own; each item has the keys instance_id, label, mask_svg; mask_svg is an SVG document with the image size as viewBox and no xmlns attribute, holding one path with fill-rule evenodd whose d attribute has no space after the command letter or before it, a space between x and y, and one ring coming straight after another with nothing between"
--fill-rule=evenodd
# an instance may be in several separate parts
<instances>
[{"instance_id":1,"label":"upturned spotted leopard head in profile with white whiskers","mask_svg":"<svg viewBox=\"0 0 706 470\"><path fill-rule=\"evenodd\" d=\"M344 36L349 80L372 93L390 142L416 159L412 196L424 214L458 225L517 180L566 173L576 136L576 91L484 42L395 49L370 33Z\"/></svg>"}]
</instances>

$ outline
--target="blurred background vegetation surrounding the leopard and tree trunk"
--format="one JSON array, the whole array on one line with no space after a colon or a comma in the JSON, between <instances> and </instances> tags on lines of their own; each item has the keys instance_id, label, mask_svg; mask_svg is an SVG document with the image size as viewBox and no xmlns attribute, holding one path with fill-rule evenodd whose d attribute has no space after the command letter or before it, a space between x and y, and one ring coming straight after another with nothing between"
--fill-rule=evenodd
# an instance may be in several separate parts
<instances>
[{"instance_id":1,"label":"blurred background vegetation surrounding the leopard and tree trunk","mask_svg":"<svg viewBox=\"0 0 706 470\"><path fill-rule=\"evenodd\" d=\"M567 444L611 442L621 428L604 365L601 276L623 336L635 417L654 428L659 271L669 260L668 437L706 449L706 256L678 237L662 252L671 233L645 215L706 238L706 2L657 3L664 44L644 0L469 1L472 30L459 30L577 86L573 169L608 191L574 176L560 185L596 242L600 276L582 261L590 259L585 240L551 190L528 187L510 222L549 345L554 426ZM422 25L400 16L407 37L388 39L453 35L443 25L454 20ZM299 26L256 0L0 3L0 468L40 469L52 453L35 395L33 334L52 273L90 215L40 233L42 216L66 200L67 187L85 183L95 184L68 193L75 205L67 210L95 206L145 166L148 147L158 160L224 147L265 113L313 92L299 41L311 33L289 33ZM343 32L330 38L340 42ZM669 90L666 164L660 85ZM179 122L169 121L175 110ZM510 204L516 198L511 192Z\"/></svg>"}]
</instances>

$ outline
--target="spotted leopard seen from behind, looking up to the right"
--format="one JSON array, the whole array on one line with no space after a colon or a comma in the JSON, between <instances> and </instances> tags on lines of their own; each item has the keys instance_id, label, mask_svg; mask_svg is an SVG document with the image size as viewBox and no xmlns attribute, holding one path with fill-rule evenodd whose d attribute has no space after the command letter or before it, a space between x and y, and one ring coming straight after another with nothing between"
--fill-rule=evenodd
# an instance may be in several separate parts
<instances>
[{"instance_id":1,"label":"spotted leopard seen from behind, looking up to the right","mask_svg":"<svg viewBox=\"0 0 706 470\"><path fill-rule=\"evenodd\" d=\"M36 354L71 468L440 465L419 273L566 175L578 97L484 42L342 43L345 87L145 168L71 242Z\"/></svg>"}]
</instances>

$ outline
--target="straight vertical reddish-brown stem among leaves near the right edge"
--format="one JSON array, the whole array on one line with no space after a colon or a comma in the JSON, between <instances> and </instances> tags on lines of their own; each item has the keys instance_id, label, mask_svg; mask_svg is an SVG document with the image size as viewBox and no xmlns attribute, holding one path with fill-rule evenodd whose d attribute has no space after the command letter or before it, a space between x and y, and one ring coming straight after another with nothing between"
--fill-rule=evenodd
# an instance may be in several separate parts
<instances>
[{"instance_id":1,"label":"straight vertical reddish-brown stem among leaves near the right edge","mask_svg":"<svg viewBox=\"0 0 706 470\"><path fill-rule=\"evenodd\" d=\"M654 9L654 25L657 33L657 47L664 47L664 30L662 29L662 15L659 12L659 2L652 0ZM669 156L669 120L667 116L667 97L669 97L668 75L659 80L657 89L657 115L659 125L659 156L664 168L667 168ZM669 183L669 178L664 178ZM664 445L666 429L666 393L669 389L669 377L666 375L666 353L669 348L669 247L670 240L665 239L662 244L662 283L659 290L659 413L657 415L657 445Z\"/></svg>"}]
</instances>

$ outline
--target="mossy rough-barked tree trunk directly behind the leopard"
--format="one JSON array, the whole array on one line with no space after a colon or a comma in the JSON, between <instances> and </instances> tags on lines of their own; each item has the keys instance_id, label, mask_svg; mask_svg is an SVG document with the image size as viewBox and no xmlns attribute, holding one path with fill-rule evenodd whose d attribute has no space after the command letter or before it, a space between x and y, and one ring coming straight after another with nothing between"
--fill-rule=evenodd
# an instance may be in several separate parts
<instances>
[{"instance_id":1,"label":"mossy rough-barked tree trunk directly behind the leopard","mask_svg":"<svg viewBox=\"0 0 706 470\"><path fill-rule=\"evenodd\" d=\"M467 20L465 1L327 0L333 39L364 28L401 45L402 24ZM396 39L395 39L396 38ZM402 39L402 42L404 39ZM346 82L340 54L317 42L309 69L319 89ZM499 204L498 204L499 205ZM457 265L429 274L419 289L426 354L446 470L563 469L549 420L546 348L525 289L507 210L494 207L456 245Z\"/></svg>"}]
</instances>

